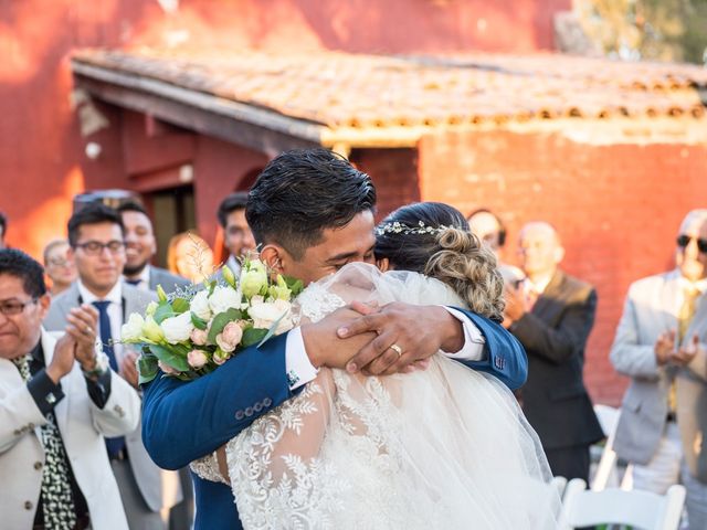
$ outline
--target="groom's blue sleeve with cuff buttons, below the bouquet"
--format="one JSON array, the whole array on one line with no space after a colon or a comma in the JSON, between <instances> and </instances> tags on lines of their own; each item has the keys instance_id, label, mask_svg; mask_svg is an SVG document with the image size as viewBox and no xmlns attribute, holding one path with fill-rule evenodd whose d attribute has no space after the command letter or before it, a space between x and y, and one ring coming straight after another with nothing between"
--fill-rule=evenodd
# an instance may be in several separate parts
<instances>
[{"instance_id":1,"label":"groom's blue sleeve with cuff buttons, below the bouquet","mask_svg":"<svg viewBox=\"0 0 707 530\"><path fill-rule=\"evenodd\" d=\"M152 460L165 469L182 468L287 400L286 337L246 348L194 381L160 372L144 385L143 442Z\"/></svg>"}]
</instances>

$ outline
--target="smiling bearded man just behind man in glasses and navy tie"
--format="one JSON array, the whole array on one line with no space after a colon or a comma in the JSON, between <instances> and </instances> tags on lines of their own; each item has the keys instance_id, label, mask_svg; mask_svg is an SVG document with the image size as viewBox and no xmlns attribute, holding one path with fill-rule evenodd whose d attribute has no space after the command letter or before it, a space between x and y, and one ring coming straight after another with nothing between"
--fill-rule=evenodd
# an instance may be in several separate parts
<instances>
[{"instance_id":1,"label":"smiling bearded man just behind man in glasses and navy tie","mask_svg":"<svg viewBox=\"0 0 707 530\"><path fill-rule=\"evenodd\" d=\"M125 226L125 280L149 290L156 290L157 286L161 285L167 293L190 285L187 278L150 265L157 252L157 241L152 221L145 209L137 202L126 202L120 204L117 211Z\"/></svg>"}]
</instances>

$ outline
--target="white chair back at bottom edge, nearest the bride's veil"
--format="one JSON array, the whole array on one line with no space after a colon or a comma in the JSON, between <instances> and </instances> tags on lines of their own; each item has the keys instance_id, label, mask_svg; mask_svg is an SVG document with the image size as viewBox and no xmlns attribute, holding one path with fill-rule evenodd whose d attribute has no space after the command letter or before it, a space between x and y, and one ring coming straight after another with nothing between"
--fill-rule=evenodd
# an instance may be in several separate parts
<instances>
[{"instance_id":1,"label":"white chair back at bottom edge, nearest the bride's veil","mask_svg":"<svg viewBox=\"0 0 707 530\"><path fill-rule=\"evenodd\" d=\"M560 528L629 524L636 530L677 530L684 502L680 485L671 486L665 495L618 488L592 491L584 480L574 478L564 490Z\"/></svg>"}]
</instances>

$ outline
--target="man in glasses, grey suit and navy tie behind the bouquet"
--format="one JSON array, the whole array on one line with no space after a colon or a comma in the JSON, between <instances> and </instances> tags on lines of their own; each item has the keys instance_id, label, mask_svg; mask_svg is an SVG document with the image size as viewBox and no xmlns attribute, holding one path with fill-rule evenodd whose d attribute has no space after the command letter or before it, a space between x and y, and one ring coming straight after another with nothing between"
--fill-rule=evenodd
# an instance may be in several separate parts
<instances>
[{"instance_id":1,"label":"man in glasses, grey suit and navy tie behind the bouquet","mask_svg":"<svg viewBox=\"0 0 707 530\"><path fill-rule=\"evenodd\" d=\"M120 280L125 265L120 216L103 204L85 206L68 221L68 243L78 279L52 301L44 327L62 330L72 308L93 304L98 310L98 336L110 367L137 386L136 353L114 341L119 340L127 317L144 312L157 295ZM167 509L181 500L177 475L162 471L150 459L139 425L125 437L107 438L106 448L130 529L165 529Z\"/></svg>"}]
</instances>

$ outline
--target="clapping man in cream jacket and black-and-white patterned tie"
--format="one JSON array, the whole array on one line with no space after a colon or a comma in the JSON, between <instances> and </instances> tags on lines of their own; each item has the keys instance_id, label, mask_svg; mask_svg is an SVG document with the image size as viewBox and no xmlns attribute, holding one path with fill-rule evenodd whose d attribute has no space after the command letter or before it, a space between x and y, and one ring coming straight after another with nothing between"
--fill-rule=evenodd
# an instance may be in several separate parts
<instances>
[{"instance_id":1,"label":"clapping man in cream jacket and black-and-white patterned tie","mask_svg":"<svg viewBox=\"0 0 707 530\"><path fill-rule=\"evenodd\" d=\"M42 266L0 250L0 527L127 530L104 436L134 431L140 400L95 351L98 311L72 308L57 340L50 300Z\"/></svg>"}]
</instances>

